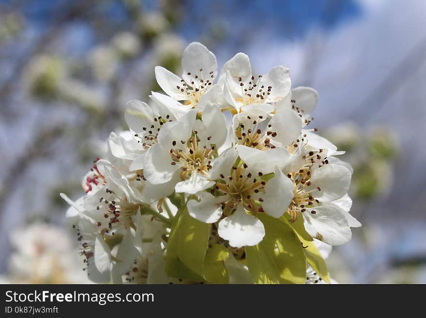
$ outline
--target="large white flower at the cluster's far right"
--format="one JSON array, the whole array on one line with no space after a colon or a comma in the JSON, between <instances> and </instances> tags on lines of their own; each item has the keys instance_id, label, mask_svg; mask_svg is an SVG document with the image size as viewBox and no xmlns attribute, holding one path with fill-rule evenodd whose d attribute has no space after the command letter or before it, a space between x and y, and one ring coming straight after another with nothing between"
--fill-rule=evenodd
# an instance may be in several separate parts
<instances>
[{"instance_id":1,"label":"large white flower at the cluster's far right","mask_svg":"<svg viewBox=\"0 0 426 318\"><path fill-rule=\"evenodd\" d=\"M340 165L339 161L329 161L327 152L336 153L333 147L325 150L311 147L310 137L307 136L306 141L306 136L304 134L298 139L299 142L293 144L301 155L302 164L295 169L296 172L285 171L295 188L288 212L293 219L298 217L299 212L303 215L305 229L312 237L331 245L343 244L351 238L350 227L361 226L349 214L349 209L343 208L348 202L341 201L350 200L347 193L351 171ZM319 140L326 141L323 138ZM322 144L327 146L327 142ZM321 147L321 144L318 146ZM342 203L335 204L336 200Z\"/></svg>"}]
</instances>

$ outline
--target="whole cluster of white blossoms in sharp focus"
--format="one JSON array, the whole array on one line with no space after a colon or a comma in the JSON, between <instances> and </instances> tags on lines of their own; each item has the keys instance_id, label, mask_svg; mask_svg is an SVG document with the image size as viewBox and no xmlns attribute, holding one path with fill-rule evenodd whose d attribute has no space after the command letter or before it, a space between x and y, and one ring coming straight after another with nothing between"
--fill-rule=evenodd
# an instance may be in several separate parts
<instances>
[{"instance_id":1,"label":"whole cluster of white blossoms in sharp focus","mask_svg":"<svg viewBox=\"0 0 426 318\"><path fill-rule=\"evenodd\" d=\"M67 216L89 278L193 282L184 270L183 277L167 270L171 241L191 237L182 213L208 225L208 247L226 250L216 260L229 283L253 282L245 249L268 238L271 222L291 227L303 220L312 242L348 242L350 228L361 226L349 213L352 169L337 158L342 151L307 128L317 92L291 89L283 66L253 74L243 53L218 72L214 54L200 43L186 47L182 68L182 76L155 68L166 94L130 101L129 131L111 133L108 154L83 179L86 194L75 202L61 194L71 205ZM208 276L200 282L211 282Z\"/></svg>"}]
</instances>

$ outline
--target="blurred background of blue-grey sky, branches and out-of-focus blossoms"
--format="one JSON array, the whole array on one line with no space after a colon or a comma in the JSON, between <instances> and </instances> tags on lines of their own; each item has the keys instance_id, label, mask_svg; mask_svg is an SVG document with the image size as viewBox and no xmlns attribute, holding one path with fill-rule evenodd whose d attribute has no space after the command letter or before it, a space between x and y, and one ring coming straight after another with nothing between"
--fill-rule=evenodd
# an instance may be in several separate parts
<instances>
[{"instance_id":1,"label":"blurred background of blue-grey sky, branches and out-of-focus blossoms","mask_svg":"<svg viewBox=\"0 0 426 318\"><path fill-rule=\"evenodd\" d=\"M290 68L354 167L341 283L426 283L426 1L0 0L0 282L87 282L67 205L123 107L199 41Z\"/></svg>"}]
</instances>

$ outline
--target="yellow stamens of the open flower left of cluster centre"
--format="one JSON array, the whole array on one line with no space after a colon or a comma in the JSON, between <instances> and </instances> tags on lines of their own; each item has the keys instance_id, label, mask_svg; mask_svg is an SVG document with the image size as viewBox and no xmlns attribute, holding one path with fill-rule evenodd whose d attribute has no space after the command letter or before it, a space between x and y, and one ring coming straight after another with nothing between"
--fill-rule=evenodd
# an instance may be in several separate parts
<instances>
[{"instance_id":1,"label":"yellow stamens of the open flower left of cluster centre","mask_svg":"<svg viewBox=\"0 0 426 318\"><path fill-rule=\"evenodd\" d=\"M170 164L172 166L179 165L182 168L182 180L188 179L192 171L205 175L210 170L212 167L211 159L213 159L216 154L216 147L211 144L209 145L209 141L211 139L212 137L209 136L207 137L207 142L201 143L201 140L198 137L198 132L193 131L192 136L188 141L172 141L173 147L175 147L178 142L186 145L183 149L170 149L170 157L172 159Z\"/></svg>"}]
</instances>

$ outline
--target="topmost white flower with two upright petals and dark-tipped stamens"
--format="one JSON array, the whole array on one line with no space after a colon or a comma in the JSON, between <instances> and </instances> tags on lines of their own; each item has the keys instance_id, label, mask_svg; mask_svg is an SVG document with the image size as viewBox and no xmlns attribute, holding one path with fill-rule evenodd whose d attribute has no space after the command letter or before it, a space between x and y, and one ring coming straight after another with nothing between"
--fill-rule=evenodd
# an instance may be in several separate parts
<instances>
[{"instance_id":1,"label":"topmost white flower with two upright petals and dark-tipped stamens","mask_svg":"<svg viewBox=\"0 0 426 318\"><path fill-rule=\"evenodd\" d=\"M193 42L183 51L182 78L161 66L155 67L155 78L163 91L185 105L197 106L213 87L217 75L216 57L204 45Z\"/></svg>"}]
</instances>

